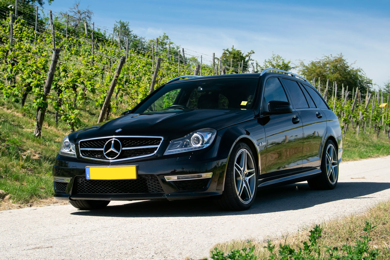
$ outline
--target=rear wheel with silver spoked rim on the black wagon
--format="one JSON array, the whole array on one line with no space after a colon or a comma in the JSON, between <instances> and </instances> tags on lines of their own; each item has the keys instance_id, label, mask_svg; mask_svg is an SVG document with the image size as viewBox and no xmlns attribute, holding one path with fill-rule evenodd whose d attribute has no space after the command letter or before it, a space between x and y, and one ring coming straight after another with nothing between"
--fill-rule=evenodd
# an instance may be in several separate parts
<instances>
[{"instance_id":1,"label":"rear wheel with silver spoked rim on the black wagon","mask_svg":"<svg viewBox=\"0 0 390 260\"><path fill-rule=\"evenodd\" d=\"M324 146L321 160L321 175L307 181L314 190L332 190L339 179L339 158L335 144L328 140Z\"/></svg>"}]
</instances>

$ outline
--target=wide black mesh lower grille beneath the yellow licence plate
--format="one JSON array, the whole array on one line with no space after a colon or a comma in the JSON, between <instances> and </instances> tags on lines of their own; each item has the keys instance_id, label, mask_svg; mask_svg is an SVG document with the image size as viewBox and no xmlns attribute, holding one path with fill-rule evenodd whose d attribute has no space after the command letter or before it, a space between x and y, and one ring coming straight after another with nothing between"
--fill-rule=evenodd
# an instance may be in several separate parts
<instances>
[{"instance_id":1,"label":"wide black mesh lower grille beneath the yellow licence plate","mask_svg":"<svg viewBox=\"0 0 390 260\"><path fill-rule=\"evenodd\" d=\"M87 180L76 176L75 193L129 194L164 192L156 175L139 175L136 180Z\"/></svg>"}]
</instances>

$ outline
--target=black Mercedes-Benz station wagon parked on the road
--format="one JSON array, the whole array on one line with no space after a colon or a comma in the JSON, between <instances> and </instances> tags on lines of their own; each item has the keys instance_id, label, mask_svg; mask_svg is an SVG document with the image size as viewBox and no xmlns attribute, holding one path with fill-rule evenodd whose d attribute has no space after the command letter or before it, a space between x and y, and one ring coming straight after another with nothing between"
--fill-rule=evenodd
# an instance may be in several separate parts
<instances>
[{"instance_id":1,"label":"black Mercedes-Benz station wagon parked on the road","mask_svg":"<svg viewBox=\"0 0 390 260\"><path fill-rule=\"evenodd\" d=\"M55 198L96 209L208 197L245 210L271 185L333 189L341 155L337 116L305 78L279 69L184 76L119 118L65 137Z\"/></svg>"}]
</instances>

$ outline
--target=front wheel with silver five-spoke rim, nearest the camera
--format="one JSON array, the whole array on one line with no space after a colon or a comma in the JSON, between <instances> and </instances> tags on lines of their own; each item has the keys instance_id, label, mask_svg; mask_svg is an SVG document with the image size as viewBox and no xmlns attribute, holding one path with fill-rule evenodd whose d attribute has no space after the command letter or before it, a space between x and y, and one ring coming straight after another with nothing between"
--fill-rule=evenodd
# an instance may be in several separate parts
<instances>
[{"instance_id":1,"label":"front wheel with silver five-spoke rim, nearest the camera","mask_svg":"<svg viewBox=\"0 0 390 260\"><path fill-rule=\"evenodd\" d=\"M218 204L224 210L247 210L257 192L257 166L249 146L237 143L226 168L225 186ZM240 194L240 195L239 195Z\"/></svg>"}]
</instances>

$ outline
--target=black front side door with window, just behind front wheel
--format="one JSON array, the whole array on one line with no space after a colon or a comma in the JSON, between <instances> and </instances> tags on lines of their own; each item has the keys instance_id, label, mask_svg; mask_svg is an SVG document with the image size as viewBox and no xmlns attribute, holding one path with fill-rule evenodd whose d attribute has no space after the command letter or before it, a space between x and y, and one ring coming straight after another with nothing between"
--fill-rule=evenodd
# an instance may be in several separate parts
<instances>
[{"instance_id":1,"label":"black front side door with window, just behind front wheel","mask_svg":"<svg viewBox=\"0 0 390 260\"><path fill-rule=\"evenodd\" d=\"M272 100L291 102L278 77L266 80L260 123L266 134L266 172L268 176L290 174L302 169L303 130L298 112L264 115Z\"/></svg>"}]
</instances>

